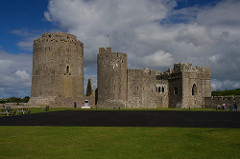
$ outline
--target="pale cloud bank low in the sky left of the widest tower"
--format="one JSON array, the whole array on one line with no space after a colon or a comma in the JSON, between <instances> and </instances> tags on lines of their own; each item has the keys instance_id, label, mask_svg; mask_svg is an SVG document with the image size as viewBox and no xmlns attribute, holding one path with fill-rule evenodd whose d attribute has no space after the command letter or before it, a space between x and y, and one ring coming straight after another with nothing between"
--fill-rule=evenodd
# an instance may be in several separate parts
<instances>
[{"instance_id":1,"label":"pale cloud bank low in the sky left of the widest tower","mask_svg":"<svg viewBox=\"0 0 240 159\"><path fill-rule=\"evenodd\" d=\"M30 95L32 56L9 54L0 49L0 98Z\"/></svg>"}]
</instances>

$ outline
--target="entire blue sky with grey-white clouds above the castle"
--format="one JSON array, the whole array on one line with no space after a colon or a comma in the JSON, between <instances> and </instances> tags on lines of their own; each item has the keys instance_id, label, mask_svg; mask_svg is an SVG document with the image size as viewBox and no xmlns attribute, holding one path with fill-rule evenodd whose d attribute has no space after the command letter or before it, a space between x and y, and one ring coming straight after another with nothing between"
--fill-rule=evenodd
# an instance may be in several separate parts
<instances>
[{"instance_id":1,"label":"entire blue sky with grey-white clouds above the castle","mask_svg":"<svg viewBox=\"0 0 240 159\"><path fill-rule=\"evenodd\" d=\"M30 96L32 41L55 31L85 44L85 80L95 87L98 48L109 34L129 68L191 62L210 66L212 89L239 88L239 7L238 0L1 0L0 98Z\"/></svg>"}]
</instances>

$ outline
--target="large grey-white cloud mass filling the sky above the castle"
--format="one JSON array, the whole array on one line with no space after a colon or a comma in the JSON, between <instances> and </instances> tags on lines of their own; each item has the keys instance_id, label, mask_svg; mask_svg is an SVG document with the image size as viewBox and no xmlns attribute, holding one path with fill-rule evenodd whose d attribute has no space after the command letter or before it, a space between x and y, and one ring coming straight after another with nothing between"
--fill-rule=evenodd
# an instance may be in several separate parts
<instances>
[{"instance_id":1,"label":"large grey-white cloud mass filling the sky above the castle","mask_svg":"<svg viewBox=\"0 0 240 159\"><path fill-rule=\"evenodd\" d=\"M191 62L210 66L212 88L239 87L240 2L176 6L175 0L50 0L44 15L85 44L87 76L96 78L98 48L110 35L110 46L128 54L130 68L165 71Z\"/></svg>"}]
</instances>

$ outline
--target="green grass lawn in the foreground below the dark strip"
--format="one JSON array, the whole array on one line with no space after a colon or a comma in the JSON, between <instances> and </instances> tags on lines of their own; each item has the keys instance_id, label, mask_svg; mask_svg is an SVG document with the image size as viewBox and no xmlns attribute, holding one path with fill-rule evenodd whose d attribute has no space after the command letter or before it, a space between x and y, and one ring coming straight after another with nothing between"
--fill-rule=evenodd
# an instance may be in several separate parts
<instances>
[{"instance_id":1,"label":"green grass lawn in the foreground below the dark strip","mask_svg":"<svg viewBox=\"0 0 240 159\"><path fill-rule=\"evenodd\" d=\"M240 129L0 126L0 158L240 158Z\"/></svg>"}]
</instances>

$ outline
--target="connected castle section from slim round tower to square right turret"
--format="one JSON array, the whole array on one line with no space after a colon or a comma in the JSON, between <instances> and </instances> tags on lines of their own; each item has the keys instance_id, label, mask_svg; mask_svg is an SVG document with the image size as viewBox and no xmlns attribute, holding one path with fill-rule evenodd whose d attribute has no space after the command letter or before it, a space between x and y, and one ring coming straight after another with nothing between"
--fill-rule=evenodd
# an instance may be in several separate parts
<instances>
[{"instance_id":1,"label":"connected castle section from slim round tower to square right turret","mask_svg":"<svg viewBox=\"0 0 240 159\"><path fill-rule=\"evenodd\" d=\"M127 69L123 61L127 62L126 54L113 53L111 48L99 49L99 107L200 108L204 97L211 96L208 67L177 63L173 69L160 73Z\"/></svg>"}]
</instances>

